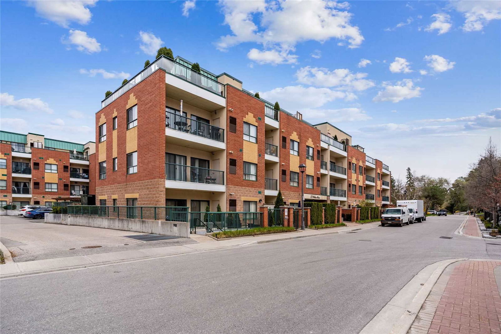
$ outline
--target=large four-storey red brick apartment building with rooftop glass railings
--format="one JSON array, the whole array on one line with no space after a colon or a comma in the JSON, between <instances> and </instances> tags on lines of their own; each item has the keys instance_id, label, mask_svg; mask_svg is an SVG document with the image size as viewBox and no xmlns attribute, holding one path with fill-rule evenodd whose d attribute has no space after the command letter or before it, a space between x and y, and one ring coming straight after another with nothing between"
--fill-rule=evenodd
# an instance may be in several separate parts
<instances>
[{"instance_id":1,"label":"large four-storey red brick apartment building with rooftop glass railings","mask_svg":"<svg viewBox=\"0 0 501 334\"><path fill-rule=\"evenodd\" d=\"M238 79L193 71L180 57L158 58L102 101L96 142L101 205L257 211L281 191L296 206L301 163L306 201L390 202L388 166L349 134L274 110Z\"/></svg>"}]
</instances>

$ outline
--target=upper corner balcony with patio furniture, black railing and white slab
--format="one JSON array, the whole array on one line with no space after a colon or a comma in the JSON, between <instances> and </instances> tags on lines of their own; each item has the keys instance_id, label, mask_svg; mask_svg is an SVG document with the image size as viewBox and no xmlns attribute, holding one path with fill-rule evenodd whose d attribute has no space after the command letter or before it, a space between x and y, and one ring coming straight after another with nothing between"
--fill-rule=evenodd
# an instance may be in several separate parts
<instances>
[{"instance_id":1,"label":"upper corner balcony with patio furniture, black railing and white slab","mask_svg":"<svg viewBox=\"0 0 501 334\"><path fill-rule=\"evenodd\" d=\"M170 111L165 112L165 135L169 142L206 151L225 149L224 129Z\"/></svg>"}]
</instances>

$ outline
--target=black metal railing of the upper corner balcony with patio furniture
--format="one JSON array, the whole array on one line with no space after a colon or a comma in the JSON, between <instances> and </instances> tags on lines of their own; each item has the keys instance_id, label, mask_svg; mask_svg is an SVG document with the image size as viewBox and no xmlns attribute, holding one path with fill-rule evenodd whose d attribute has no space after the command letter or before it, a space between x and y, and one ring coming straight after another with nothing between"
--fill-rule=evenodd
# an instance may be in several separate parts
<instances>
[{"instance_id":1,"label":"black metal railing of the upper corner balcony with patio furniture","mask_svg":"<svg viewBox=\"0 0 501 334\"><path fill-rule=\"evenodd\" d=\"M165 112L165 127L224 142L224 129L173 112Z\"/></svg>"}]
</instances>

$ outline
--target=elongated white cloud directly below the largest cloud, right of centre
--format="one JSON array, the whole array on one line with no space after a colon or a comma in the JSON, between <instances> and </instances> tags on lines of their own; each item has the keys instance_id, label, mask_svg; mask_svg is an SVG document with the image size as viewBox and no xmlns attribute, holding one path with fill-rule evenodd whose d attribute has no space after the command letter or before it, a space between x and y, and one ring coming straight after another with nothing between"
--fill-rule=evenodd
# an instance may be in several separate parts
<instances>
[{"instance_id":1,"label":"elongated white cloud directly below the largest cloud, right of centre","mask_svg":"<svg viewBox=\"0 0 501 334\"><path fill-rule=\"evenodd\" d=\"M348 69L329 71L326 68L302 67L296 72L299 83L319 87L338 87L342 90L363 91L373 87L374 81L365 79L367 73L352 73Z\"/></svg>"}]
</instances>

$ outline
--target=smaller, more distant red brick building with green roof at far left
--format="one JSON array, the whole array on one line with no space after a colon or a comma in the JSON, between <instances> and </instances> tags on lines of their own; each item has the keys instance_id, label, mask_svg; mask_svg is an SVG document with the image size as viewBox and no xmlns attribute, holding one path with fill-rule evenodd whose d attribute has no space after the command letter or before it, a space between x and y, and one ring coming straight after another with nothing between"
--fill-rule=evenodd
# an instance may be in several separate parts
<instances>
[{"instance_id":1,"label":"smaller, more distant red brick building with green roof at far left","mask_svg":"<svg viewBox=\"0 0 501 334\"><path fill-rule=\"evenodd\" d=\"M95 143L0 131L0 206L80 202L95 193Z\"/></svg>"}]
</instances>

